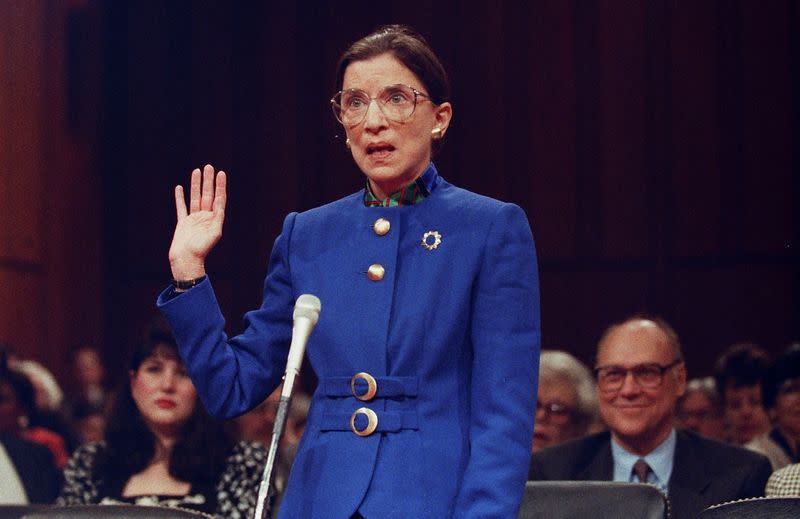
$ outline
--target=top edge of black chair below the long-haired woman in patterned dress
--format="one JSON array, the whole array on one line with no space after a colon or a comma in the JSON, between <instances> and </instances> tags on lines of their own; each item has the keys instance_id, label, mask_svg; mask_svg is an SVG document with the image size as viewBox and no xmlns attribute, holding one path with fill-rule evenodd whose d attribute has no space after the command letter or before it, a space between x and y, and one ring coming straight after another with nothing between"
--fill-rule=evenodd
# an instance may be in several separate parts
<instances>
[{"instance_id":1,"label":"top edge of black chair below the long-haired woman in patterned dress","mask_svg":"<svg viewBox=\"0 0 800 519\"><path fill-rule=\"evenodd\" d=\"M79 505L53 506L23 515L20 519L213 519L212 516L158 506Z\"/></svg>"}]
</instances>

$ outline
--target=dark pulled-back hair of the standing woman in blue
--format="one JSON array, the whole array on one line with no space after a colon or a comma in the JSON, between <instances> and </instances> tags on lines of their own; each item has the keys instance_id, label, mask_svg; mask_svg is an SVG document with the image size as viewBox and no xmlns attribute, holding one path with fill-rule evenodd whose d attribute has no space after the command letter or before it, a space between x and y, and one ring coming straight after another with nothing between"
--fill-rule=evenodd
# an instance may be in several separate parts
<instances>
[{"instance_id":1,"label":"dark pulled-back hair of the standing woman in blue","mask_svg":"<svg viewBox=\"0 0 800 519\"><path fill-rule=\"evenodd\" d=\"M350 45L336 65L335 89L342 89L348 65L385 53L397 58L422 81L420 88L427 90L435 104L450 99L450 82L442 63L425 38L407 25L384 25Z\"/></svg>"}]
</instances>

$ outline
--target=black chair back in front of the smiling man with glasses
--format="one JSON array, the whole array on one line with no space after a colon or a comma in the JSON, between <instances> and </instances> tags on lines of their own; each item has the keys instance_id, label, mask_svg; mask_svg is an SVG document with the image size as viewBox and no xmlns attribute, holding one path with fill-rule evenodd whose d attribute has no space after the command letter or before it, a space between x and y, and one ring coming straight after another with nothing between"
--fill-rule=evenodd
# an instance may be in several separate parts
<instances>
[{"instance_id":1,"label":"black chair back in front of the smiling man with glasses","mask_svg":"<svg viewBox=\"0 0 800 519\"><path fill-rule=\"evenodd\" d=\"M519 519L667 519L659 489L613 481L528 481Z\"/></svg>"}]
</instances>

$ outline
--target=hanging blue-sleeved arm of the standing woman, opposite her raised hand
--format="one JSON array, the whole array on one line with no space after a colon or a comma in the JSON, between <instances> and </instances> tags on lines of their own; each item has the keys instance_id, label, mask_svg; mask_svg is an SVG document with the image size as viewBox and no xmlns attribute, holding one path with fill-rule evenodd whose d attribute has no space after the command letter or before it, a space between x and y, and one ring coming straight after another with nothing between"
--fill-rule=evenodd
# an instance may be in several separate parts
<instances>
[{"instance_id":1,"label":"hanging blue-sleeved arm of the standing woman, opposite her raised hand","mask_svg":"<svg viewBox=\"0 0 800 519\"><path fill-rule=\"evenodd\" d=\"M518 514L531 456L539 371L539 278L525 213L492 223L472 301L470 457L454 517Z\"/></svg>"}]
</instances>

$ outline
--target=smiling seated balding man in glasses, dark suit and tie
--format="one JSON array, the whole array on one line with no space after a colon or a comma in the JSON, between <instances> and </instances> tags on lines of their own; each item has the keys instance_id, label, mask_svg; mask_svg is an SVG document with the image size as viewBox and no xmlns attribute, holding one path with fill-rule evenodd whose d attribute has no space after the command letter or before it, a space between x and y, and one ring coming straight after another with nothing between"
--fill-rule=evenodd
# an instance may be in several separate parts
<instances>
[{"instance_id":1,"label":"smiling seated balding man in glasses, dark suit and tie","mask_svg":"<svg viewBox=\"0 0 800 519\"><path fill-rule=\"evenodd\" d=\"M634 317L609 327L594 373L609 430L534 454L530 479L650 483L668 495L677 519L763 495L765 457L674 428L686 367L665 321Z\"/></svg>"}]
</instances>

